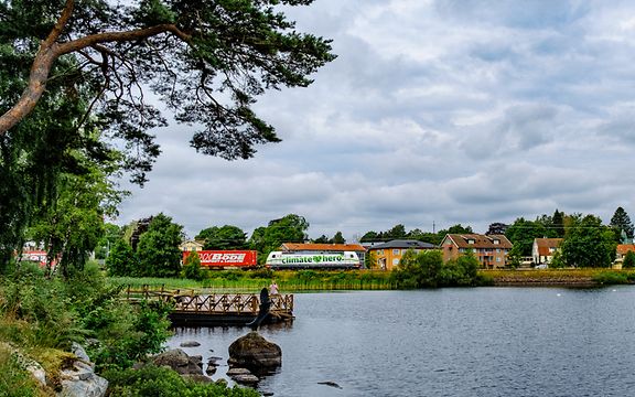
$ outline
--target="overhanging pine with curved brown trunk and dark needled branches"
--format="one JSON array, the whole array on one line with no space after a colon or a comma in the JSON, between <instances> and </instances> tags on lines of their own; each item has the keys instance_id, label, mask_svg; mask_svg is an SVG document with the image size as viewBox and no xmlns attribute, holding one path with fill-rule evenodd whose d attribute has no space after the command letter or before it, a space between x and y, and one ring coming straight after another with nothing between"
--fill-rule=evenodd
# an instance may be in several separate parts
<instances>
[{"instance_id":1,"label":"overhanging pine with curved brown trunk and dark needled branches","mask_svg":"<svg viewBox=\"0 0 635 397\"><path fill-rule=\"evenodd\" d=\"M0 136L43 96L83 93L89 106L79 125L88 115L103 120L112 137L146 150L148 167L158 154L148 130L164 124L146 99L149 89L177 121L201 126L191 140L196 150L249 158L254 144L279 140L252 111L256 97L268 88L308 86L309 75L335 57L329 40L297 32L276 8L312 2L3 1L1 61L20 78L0 100Z\"/></svg>"}]
</instances>

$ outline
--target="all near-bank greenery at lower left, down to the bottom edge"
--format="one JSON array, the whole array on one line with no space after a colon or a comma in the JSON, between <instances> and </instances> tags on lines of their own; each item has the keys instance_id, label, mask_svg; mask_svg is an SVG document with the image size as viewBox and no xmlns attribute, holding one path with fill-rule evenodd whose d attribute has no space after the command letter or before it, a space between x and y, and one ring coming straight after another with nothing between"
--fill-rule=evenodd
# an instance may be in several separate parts
<instances>
[{"instance_id":1,"label":"all near-bank greenery at lower left, down to the bottom edge","mask_svg":"<svg viewBox=\"0 0 635 397\"><path fill-rule=\"evenodd\" d=\"M168 369L130 375L134 363L159 353L171 335L171 307L131 304L121 300L120 292L95 264L71 279L46 278L29 264L4 275L0 280L0 395L54 395L61 369L73 362L69 346L77 342L86 347L97 374L114 380L111 396L258 396L251 389L184 382ZM46 372L46 386L26 372L24 362L31 361ZM133 383L126 380L132 378ZM159 391L146 394L151 389Z\"/></svg>"}]
</instances>

